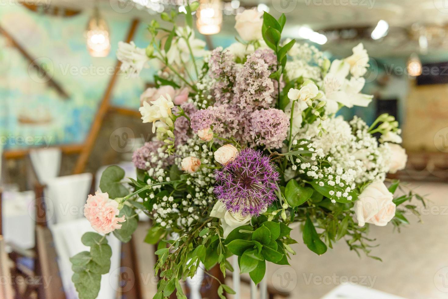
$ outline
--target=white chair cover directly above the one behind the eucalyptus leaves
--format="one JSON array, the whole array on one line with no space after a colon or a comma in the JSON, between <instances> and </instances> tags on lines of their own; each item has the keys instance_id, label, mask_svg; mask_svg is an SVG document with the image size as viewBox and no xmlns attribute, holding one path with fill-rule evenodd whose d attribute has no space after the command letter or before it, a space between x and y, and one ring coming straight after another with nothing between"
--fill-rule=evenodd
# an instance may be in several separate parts
<instances>
[{"instance_id":1,"label":"white chair cover directly above the one behind the eucalyptus leaves","mask_svg":"<svg viewBox=\"0 0 448 299\"><path fill-rule=\"evenodd\" d=\"M47 221L62 223L84 216L84 204L92 185L92 174L65 175L48 179L44 191Z\"/></svg>"}]
</instances>

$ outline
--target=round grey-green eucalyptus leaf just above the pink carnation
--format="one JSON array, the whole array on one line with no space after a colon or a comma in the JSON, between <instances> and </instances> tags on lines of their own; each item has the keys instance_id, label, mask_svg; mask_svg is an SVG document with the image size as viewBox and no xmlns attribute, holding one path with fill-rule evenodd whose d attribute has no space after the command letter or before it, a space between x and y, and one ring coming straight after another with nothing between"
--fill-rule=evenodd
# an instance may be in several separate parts
<instances>
[{"instance_id":1,"label":"round grey-green eucalyptus leaf just above the pink carnation","mask_svg":"<svg viewBox=\"0 0 448 299\"><path fill-rule=\"evenodd\" d=\"M109 166L103 171L99 180L99 188L102 192L107 192L109 198L125 197L129 194L129 190L121 184L121 180L125 177L125 171L116 165Z\"/></svg>"}]
</instances>

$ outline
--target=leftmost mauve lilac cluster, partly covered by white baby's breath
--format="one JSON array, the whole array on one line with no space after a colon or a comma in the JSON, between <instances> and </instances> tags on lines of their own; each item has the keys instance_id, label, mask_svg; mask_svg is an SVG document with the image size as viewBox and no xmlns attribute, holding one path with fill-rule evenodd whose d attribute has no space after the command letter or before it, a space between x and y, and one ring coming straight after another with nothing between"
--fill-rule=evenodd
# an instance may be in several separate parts
<instances>
[{"instance_id":1,"label":"leftmost mauve lilac cluster, partly covered by white baby's breath","mask_svg":"<svg viewBox=\"0 0 448 299\"><path fill-rule=\"evenodd\" d=\"M166 158L160 158L159 154L164 154L162 141L150 141L146 142L141 148L138 148L134 154L132 154L132 162L135 167L142 170L149 170L156 166L166 167L174 162L174 156ZM168 156L168 155L167 155Z\"/></svg>"}]
</instances>

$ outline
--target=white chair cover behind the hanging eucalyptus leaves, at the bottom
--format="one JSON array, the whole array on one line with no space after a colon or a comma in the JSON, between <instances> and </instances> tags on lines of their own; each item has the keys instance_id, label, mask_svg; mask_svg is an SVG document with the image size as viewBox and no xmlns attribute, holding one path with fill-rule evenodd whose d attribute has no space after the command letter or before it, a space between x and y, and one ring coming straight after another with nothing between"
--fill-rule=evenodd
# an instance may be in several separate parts
<instances>
[{"instance_id":1,"label":"white chair cover behind the hanging eucalyptus leaves, at the bottom","mask_svg":"<svg viewBox=\"0 0 448 299\"><path fill-rule=\"evenodd\" d=\"M69 258L79 252L90 250L89 247L81 243L81 237L84 233L92 231L92 227L86 218L80 218L53 224L50 226L50 230L58 254L58 265L67 299L78 299L78 293L72 282L73 271ZM112 234L107 239L112 248L111 268L108 274L101 275L98 299L114 299L119 290L118 277L112 277L112 275L117 272L114 270L120 268L121 242Z\"/></svg>"}]
</instances>

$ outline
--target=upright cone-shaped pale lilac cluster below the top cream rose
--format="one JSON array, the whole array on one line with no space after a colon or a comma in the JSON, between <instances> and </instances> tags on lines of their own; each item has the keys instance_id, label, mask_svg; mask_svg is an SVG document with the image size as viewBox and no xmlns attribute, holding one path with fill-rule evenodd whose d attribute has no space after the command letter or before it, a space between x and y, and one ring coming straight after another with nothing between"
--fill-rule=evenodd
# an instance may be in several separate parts
<instances>
[{"instance_id":1,"label":"upright cone-shaped pale lilac cluster below the top cream rose","mask_svg":"<svg viewBox=\"0 0 448 299\"><path fill-rule=\"evenodd\" d=\"M274 102L274 82L269 78L271 73L261 53L248 56L237 74L232 103L247 112L271 107Z\"/></svg>"}]
</instances>

